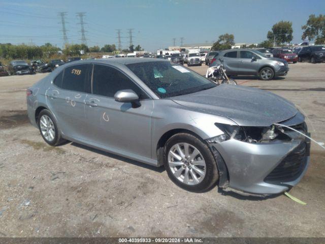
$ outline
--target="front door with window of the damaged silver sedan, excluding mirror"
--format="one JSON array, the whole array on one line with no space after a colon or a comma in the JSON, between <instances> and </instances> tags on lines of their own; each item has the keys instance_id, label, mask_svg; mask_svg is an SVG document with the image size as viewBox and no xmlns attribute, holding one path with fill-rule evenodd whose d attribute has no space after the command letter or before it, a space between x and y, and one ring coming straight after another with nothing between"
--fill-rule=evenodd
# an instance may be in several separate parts
<instances>
[{"instance_id":1,"label":"front door with window of the damaged silver sedan, excluding mirror","mask_svg":"<svg viewBox=\"0 0 325 244\"><path fill-rule=\"evenodd\" d=\"M139 104L115 101L115 93L123 89L137 93ZM91 128L86 133L91 144L151 158L153 101L131 78L115 67L94 65L92 95L85 103L86 124Z\"/></svg>"}]
</instances>

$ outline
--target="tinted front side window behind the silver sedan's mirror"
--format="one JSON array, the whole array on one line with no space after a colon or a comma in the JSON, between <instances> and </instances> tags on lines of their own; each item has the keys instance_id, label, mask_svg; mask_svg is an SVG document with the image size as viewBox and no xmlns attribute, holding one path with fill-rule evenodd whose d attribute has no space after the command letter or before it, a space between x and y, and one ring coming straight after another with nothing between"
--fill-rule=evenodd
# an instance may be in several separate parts
<instances>
[{"instance_id":1,"label":"tinted front side window behind the silver sedan's mirror","mask_svg":"<svg viewBox=\"0 0 325 244\"><path fill-rule=\"evenodd\" d=\"M119 90L132 89L140 99L148 98L142 89L123 73L109 66L94 65L92 93L113 98Z\"/></svg>"}]
</instances>

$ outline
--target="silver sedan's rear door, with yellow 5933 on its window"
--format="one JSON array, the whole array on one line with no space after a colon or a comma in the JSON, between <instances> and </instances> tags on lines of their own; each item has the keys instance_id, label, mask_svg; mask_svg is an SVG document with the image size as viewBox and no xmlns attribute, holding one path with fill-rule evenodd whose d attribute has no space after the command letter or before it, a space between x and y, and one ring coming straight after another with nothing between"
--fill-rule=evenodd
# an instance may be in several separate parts
<instances>
[{"instance_id":1,"label":"silver sedan's rear door, with yellow 5933 on its window","mask_svg":"<svg viewBox=\"0 0 325 244\"><path fill-rule=\"evenodd\" d=\"M71 138L82 139L85 135L84 101L90 93L89 67L88 64L67 67L46 92L59 129Z\"/></svg>"}]
</instances>

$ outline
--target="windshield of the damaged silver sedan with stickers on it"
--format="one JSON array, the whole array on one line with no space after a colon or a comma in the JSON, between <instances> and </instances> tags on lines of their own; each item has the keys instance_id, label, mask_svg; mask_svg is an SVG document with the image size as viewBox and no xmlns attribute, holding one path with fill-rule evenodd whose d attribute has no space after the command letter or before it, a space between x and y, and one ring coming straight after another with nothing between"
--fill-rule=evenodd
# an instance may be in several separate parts
<instances>
[{"instance_id":1,"label":"windshield of the damaged silver sedan with stickers on it","mask_svg":"<svg viewBox=\"0 0 325 244\"><path fill-rule=\"evenodd\" d=\"M146 62L126 65L159 98L169 98L210 89L215 83L170 62Z\"/></svg>"}]
</instances>

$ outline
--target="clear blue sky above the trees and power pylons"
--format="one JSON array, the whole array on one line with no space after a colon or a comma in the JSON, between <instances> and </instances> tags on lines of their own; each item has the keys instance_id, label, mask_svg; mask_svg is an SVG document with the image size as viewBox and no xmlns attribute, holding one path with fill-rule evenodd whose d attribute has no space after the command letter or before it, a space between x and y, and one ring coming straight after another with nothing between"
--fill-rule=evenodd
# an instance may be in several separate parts
<instances>
[{"instance_id":1,"label":"clear blue sky above the trees and power pylons","mask_svg":"<svg viewBox=\"0 0 325 244\"><path fill-rule=\"evenodd\" d=\"M176 45L214 42L219 35L233 34L236 43L259 43L278 21L293 22L293 43L300 43L310 14L325 14L324 0L0 0L0 43L63 46L59 12L67 12L69 43L81 43L80 18L88 47L117 46L121 29L122 48L133 44L147 51Z\"/></svg>"}]
</instances>

